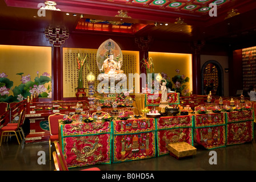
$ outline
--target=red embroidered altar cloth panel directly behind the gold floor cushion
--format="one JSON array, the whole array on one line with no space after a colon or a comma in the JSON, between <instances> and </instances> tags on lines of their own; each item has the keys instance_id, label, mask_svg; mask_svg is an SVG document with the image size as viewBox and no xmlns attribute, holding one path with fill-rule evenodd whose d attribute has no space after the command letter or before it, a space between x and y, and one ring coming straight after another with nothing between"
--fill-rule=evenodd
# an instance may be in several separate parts
<instances>
[{"instance_id":1,"label":"red embroidered altar cloth panel directly behind the gold floor cushion","mask_svg":"<svg viewBox=\"0 0 256 182\"><path fill-rule=\"evenodd\" d=\"M158 156L169 154L171 142L187 142L193 146L193 115L161 117L157 122Z\"/></svg>"}]
</instances>

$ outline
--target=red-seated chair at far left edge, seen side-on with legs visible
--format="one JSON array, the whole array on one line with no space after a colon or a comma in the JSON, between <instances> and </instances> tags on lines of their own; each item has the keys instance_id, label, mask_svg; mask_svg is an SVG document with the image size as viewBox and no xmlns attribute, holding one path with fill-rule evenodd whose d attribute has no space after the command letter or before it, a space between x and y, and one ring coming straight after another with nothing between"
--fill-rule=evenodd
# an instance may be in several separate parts
<instances>
[{"instance_id":1,"label":"red-seated chair at far left edge, seen side-on with legs visible","mask_svg":"<svg viewBox=\"0 0 256 182\"><path fill-rule=\"evenodd\" d=\"M22 119L25 115L25 111L22 110L21 113L19 114L19 121L18 121L18 125L14 125L14 126L4 126L0 129L0 133L2 133L1 135L1 141L0 141L0 146L2 144L2 139L3 137L11 137L11 136L16 136L17 140L18 140L18 143L21 144L19 142L19 138L18 138L18 135L17 135L17 132L19 133L19 127L21 127L21 122L22 122ZM14 134L12 134L14 133ZM21 137L21 133L19 133L19 136ZM7 138L8 139L8 138ZM22 140L22 137L21 137L21 140Z\"/></svg>"}]
</instances>

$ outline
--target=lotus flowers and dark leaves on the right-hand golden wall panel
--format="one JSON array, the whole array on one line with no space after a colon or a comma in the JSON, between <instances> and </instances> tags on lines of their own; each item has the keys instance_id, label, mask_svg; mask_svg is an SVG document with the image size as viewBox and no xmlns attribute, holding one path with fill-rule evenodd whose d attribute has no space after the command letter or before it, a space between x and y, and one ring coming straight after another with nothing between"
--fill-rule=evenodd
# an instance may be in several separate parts
<instances>
[{"instance_id":1,"label":"lotus flowers and dark leaves on the right-hand golden wall panel","mask_svg":"<svg viewBox=\"0 0 256 182\"><path fill-rule=\"evenodd\" d=\"M185 75L179 75L179 69L175 70L178 75L175 75L171 80L173 81L174 84L174 91L182 94L185 96L187 93L189 93L189 89L187 88L187 85L185 85L186 82L189 82L189 77L186 77Z\"/></svg>"}]
</instances>

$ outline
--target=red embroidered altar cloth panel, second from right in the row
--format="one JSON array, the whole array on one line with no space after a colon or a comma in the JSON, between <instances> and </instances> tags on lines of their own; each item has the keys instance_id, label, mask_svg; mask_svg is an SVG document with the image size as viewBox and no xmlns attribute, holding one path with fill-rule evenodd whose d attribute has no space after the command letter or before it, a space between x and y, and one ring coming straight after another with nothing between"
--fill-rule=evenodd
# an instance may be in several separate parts
<instances>
[{"instance_id":1,"label":"red embroidered altar cloth panel, second from right in the row","mask_svg":"<svg viewBox=\"0 0 256 182\"><path fill-rule=\"evenodd\" d=\"M225 113L194 115L194 140L206 149L225 147Z\"/></svg>"}]
</instances>

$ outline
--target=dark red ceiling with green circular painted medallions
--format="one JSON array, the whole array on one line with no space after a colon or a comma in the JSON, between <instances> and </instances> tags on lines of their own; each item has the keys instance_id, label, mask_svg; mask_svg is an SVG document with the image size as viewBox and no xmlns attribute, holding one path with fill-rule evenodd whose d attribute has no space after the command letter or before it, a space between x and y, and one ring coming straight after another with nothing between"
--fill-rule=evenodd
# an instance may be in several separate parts
<instances>
[{"instance_id":1,"label":"dark red ceiling with green circular painted medallions","mask_svg":"<svg viewBox=\"0 0 256 182\"><path fill-rule=\"evenodd\" d=\"M229 38L235 40L239 35L244 37L247 31L253 34L252 30L255 29L255 23L251 21L251 17L255 16L255 0L56 0L56 7L61 11L47 11L46 17L34 18L39 9L38 3L42 2L0 0L0 29L43 31L49 24L61 23L70 32L78 29L82 32L99 32L101 30L89 30L81 25L85 24L85 19L118 21L121 19L116 16L119 10L127 11L131 18L123 18L123 22L133 24L134 28L123 34L134 36L153 35L159 39L205 39L219 42ZM218 6L217 17L209 16L210 3ZM225 19L231 9L237 9L240 14ZM66 13L70 15L67 16ZM83 19L79 15L83 15ZM175 23L178 18L183 19L186 24ZM240 25L241 22L243 26ZM165 23L168 25L165 26ZM22 26L24 24L26 26ZM89 23L87 26L92 27ZM107 31L101 31L102 34L111 32L110 26L104 30ZM122 31L118 34L122 35Z\"/></svg>"}]
</instances>

